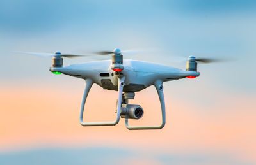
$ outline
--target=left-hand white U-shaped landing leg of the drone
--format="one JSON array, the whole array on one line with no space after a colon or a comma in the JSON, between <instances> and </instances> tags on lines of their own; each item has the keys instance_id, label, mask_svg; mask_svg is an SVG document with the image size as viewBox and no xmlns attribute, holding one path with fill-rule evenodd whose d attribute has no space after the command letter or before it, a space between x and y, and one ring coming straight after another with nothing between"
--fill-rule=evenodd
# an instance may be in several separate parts
<instances>
[{"instance_id":1,"label":"left-hand white U-shaped landing leg of the drone","mask_svg":"<svg viewBox=\"0 0 256 165\"><path fill-rule=\"evenodd\" d=\"M118 103L117 103L117 113L116 120L113 122L83 122L83 113L84 113L84 104L86 98L88 96L89 90L93 85L93 81L91 79L86 79L86 87L84 89L83 100L81 104L81 112L80 112L80 123L82 126L114 126L118 124L121 113L121 104L122 104L122 92L124 87L124 77L118 78Z\"/></svg>"}]
</instances>

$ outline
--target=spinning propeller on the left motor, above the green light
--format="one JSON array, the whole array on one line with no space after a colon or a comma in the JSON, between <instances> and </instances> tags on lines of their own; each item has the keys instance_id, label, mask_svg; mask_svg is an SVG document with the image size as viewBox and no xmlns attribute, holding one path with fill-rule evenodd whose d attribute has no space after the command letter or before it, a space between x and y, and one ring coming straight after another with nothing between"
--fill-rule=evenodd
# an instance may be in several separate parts
<instances>
[{"instance_id":1,"label":"spinning propeller on the left motor, above the green light","mask_svg":"<svg viewBox=\"0 0 256 165\"><path fill-rule=\"evenodd\" d=\"M16 51L16 53L36 55L36 56L40 56L40 57L67 57L67 58L73 58L73 57L90 56L90 55L78 55L78 54L61 54L61 52L58 52L58 51L54 52L54 54L51 54L51 53L37 53L37 52L19 52L19 51Z\"/></svg>"}]
</instances>

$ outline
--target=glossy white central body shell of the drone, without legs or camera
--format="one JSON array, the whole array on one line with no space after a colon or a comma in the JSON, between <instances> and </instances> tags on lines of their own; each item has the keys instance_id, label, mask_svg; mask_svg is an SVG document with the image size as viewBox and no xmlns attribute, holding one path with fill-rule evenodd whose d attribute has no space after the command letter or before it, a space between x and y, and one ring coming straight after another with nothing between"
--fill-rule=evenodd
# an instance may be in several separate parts
<instances>
[{"instance_id":1,"label":"glossy white central body shell of the drone, without legs or camera","mask_svg":"<svg viewBox=\"0 0 256 165\"><path fill-rule=\"evenodd\" d=\"M124 60L123 66L124 70L119 74L125 77L123 92L139 92L156 82L163 83L186 78L187 76L199 76L199 73L195 71L184 71L170 66L131 59ZM50 71L85 80L90 79L103 89L118 90L118 76L117 72L111 69L111 60L51 67Z\"/></svg>"}]
</instances>

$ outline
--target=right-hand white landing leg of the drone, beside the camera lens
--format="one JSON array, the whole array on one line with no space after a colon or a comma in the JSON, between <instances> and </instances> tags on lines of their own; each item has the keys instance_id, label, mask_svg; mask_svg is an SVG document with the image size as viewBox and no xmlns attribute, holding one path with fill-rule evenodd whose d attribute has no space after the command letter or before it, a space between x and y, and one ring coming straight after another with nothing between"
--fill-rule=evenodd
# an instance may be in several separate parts
<instances>
[{"instance_id":1,"label":"right-hand white landing leg of the drone, beside the camera lens","mask_svg":"<svg viewBox=\"0 0 256 165\"><path fill-rule=\"evenodd\" d=\"M128 118L125 118L125 125L127 129L162 129L165 125L165 104L164 104L164 93L163 93L163 82L157 81L154 86L156 87L159 100L161 103L161 111L162 111L162 124L159 126L129 126Z\"/></svg>"}]
</instances>

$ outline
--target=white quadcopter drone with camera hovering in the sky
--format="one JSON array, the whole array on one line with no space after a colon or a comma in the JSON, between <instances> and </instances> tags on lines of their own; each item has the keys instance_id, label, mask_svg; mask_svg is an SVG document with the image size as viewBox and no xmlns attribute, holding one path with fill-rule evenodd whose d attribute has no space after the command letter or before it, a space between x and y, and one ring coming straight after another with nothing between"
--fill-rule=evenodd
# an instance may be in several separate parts
<instances>
[{"instance_id":1,"label":"white quadcopter drone with camera hovering in the sky","mask_svg":"<svg viewBox=\"0 0 256 165\"><path fill-rule=\"evenodd\" d=\"M189 56L186 62L186 71L154 62L123 59L119 48L113 51L97 52L99 55L112 54L111 60L91 61L83 64L71 64L63 66L63 57L81 57L86 55L76 54L54 54L20 52L22 54L43 55L52 57L52 66L49 68L54 74L65 74L82 78L85 80L85 89L81 103L80 123L82 126L115 126L120 117L125 118L127 129L162 129L166 122L163 82L178 80L180 78L196 78L200 75L197 71L197 62L215 62L214 59L196 58ZM84 122L84 105L86 98L93 84L97 84L106 90L118 92L116 105L116 119L111 122ZM143 108L138 104L129 104L129 99L134 99L135 92L140 92L147 87L154 85L161 104L162 121L159 126L130 126L129 119L140 119L143 117Z\"/></svg>"}]
</instances>

